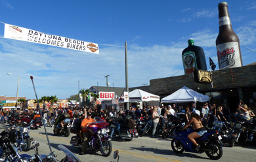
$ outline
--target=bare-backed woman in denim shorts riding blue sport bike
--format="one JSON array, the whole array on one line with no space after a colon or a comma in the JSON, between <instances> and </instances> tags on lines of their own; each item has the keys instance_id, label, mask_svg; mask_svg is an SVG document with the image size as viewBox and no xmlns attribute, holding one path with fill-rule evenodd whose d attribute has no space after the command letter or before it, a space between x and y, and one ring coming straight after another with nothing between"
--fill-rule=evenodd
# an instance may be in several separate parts
<instances>
[{"instance_id":1,"label":"bare-backed woman in denim shorts riding blue sport bike","mask_svg":"<svg viewBox=\"0 0 256 162\"><path fill-rule=\"evenodd\" d=\"M200 117L200 111L199 110L193 110L192 111L192 118L184 126L183 129L186 129L186 127L188 127L190 124L193 124L193 127L194 127L195 131L188 135L188 140L190 140L190 142L192 142L192 144L194 144L196 146L195 150L198 151L200 146L196 142L196 138L202 137L203 134L207 132L205 127L203 127L203 125L202 125L202 120L201 120L201 117Z\"/></svg>"}]
</instances>

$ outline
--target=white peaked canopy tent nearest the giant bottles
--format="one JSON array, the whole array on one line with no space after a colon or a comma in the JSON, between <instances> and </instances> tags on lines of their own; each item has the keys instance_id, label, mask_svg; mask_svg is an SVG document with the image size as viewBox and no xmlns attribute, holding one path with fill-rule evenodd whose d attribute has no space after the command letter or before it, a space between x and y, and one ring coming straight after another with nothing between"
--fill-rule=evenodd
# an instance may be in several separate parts
<instances>
[{"instance_id":1,"label":"white peaked canopy tent nearest the giant bottles","mask_svg":"<svg viewBox=\"0 0 256 162\"><path fill-rule=\"evenodd\" d=\"M206 102L209 101L209 97L187 88L186 86L161 99L161 103L196 103L197 101L201 103Z\"/></svg>"}]
</instances>

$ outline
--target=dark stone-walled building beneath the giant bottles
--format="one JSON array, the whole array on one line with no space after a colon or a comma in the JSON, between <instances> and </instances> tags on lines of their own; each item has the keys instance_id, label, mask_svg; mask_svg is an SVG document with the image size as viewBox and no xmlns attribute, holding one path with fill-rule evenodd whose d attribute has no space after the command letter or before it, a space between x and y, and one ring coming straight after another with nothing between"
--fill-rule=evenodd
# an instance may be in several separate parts
<instances>
[{"instance_id":1,"label":"dark stone-walled building beneath the giant bottles","mask_svg":"<svg viewBox=\"0 0 256 162\"><path fill-rule=\"evenodd\" d=\"M193 74L153 79L150 80L150 93L163 98L186 86L208 95L210 103L226 103L232 112L240 100L249 106L256 106L256 63L211 73L212 84L194 82Z\"/></svg>"}]
</instances>

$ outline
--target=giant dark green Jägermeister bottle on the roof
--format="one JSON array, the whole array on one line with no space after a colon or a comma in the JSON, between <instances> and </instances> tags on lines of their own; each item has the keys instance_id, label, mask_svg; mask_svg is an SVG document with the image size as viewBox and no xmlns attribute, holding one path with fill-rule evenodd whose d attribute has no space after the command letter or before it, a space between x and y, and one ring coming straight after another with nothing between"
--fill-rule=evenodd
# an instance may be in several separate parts
<instances>
[{"instance_id":1,"label":"giant dark green J\u00e4germeister bottle on the roof","mask_svg":"<svg viewBox=\"0 0 256 162\"><path fill-rule=\"evenodd\" d=\"M188 39L188 47L182 51L184 73L190 74L193 71L202 69L207 71L203 48L194 45L194 39Z\"/></svg>"}]
</instances>

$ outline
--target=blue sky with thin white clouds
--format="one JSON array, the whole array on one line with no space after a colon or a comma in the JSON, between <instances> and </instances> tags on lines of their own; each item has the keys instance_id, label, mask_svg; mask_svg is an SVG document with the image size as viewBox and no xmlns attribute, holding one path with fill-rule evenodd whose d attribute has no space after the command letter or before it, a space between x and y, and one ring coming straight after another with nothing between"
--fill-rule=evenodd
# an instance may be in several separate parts
<instances>
[{"instance_id":1,"label":"blue sky with thin white clouds","mask_svg":"<svg viewBox=\"0 0 256 162\"><path fill-rule=\"evenodd\" d=\"M182 50L188 39L215 64L222 1L7 1L0 0L0 95L66 99L91 86L125 87L125 42L129 87L184 74ZM228 11L240 39L244 65L256 61L256 2L232 0ZM100 53L79 52L4 38L5 25L94 42ZM217 66L217 70L218 70ZM11 73L11 74L7 74Z\"/></svg>"}]
</instances>

